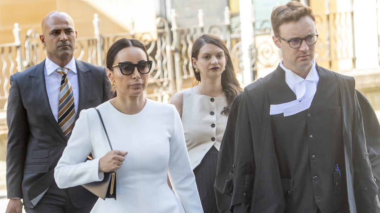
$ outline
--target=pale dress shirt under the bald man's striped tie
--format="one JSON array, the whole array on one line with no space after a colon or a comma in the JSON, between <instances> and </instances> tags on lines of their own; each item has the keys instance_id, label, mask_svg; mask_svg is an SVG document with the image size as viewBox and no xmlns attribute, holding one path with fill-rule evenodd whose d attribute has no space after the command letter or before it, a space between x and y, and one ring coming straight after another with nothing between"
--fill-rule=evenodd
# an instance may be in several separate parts
<instances>
[{"instance_id":1,"label":"pale dress shirt under the bald man's striped tie","mask_svg":"<svg viewBox=\"0 0 380 213\"><path fill-rule=\"evenodd\" d=\"M59 102L59 88L61 86L62 75L55 72L60 66L51 61L47 56L44 66L45 84L47 97L49 98L50 108L58 122L58 102ZM71 87L74 93L74 107L75 114L78 113L78 103L79 103L79 85L78 85L78 74L76 70L76 63L74 57L71 61L65 65L69 69L67 75Z\"/></svg>"}]
</instances>

